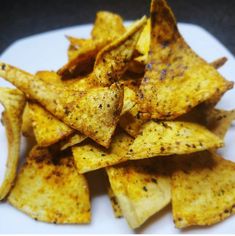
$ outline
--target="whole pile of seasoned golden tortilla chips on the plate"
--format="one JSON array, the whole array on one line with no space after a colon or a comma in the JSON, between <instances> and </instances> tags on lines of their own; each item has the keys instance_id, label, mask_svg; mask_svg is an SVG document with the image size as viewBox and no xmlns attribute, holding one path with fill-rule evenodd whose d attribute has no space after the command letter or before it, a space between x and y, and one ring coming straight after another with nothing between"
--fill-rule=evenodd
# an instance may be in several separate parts
<instances>
[{"instance_id":1,"label":"whole pile of seasoned golden tortilla chips on the plate","mask_svg":"<svg viewBox=\"0 0 235 236\"><path fill-rule=\"evenodd\" d=\"M67 37L69 61L35 75L0 63L9 143L0 199L45 222L89 223L86 174L102 169L117 217L132 228L172 204L178 228L235 213L235 163L219 156L233 87L185 42L165 0L125 27L101 11L89 39ZM20 132L35 145L17 174ZM111 206L111 205L110 205Z\"/></svg>"}]
</instances>

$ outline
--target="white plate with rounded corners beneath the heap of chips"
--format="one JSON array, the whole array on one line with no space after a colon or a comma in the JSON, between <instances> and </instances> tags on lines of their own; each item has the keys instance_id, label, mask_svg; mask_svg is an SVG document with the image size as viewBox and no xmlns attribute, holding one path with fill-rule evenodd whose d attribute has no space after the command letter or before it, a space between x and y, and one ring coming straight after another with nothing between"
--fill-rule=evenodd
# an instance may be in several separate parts
<instances>
[{"instance_id":1,"label":"white plate with rounded corners beneath the heap of chips","mask_svg":"<svg viewBox=\"0 0 235 236\"><path fill-rule=\"evenodd\" d=\"M211 62L222 56L229 61L220 72L229 80L235 79L235 59L232 54L211 34L201 27L179 24L179 28L189 45L203 58ZM64 35L89 37L91 25L83 25L51 31L12 44L1 56L1 61L35 73L38 70L57 70L67 60L68 42ZM9 84L0 79L0 86ZM229 91L219 107L235 107L235 91ZM226 147L221 152L227 159L235 160L235 129L226 136ZM0 127L0 173L4 171L7 155L5 132ZM23 156L24 151L21 155ZM5 158L5 159L4 159ZM2 175L2 174L1 174ZM0 176L1 177L1 176ZM0 203L0 233L233 233L235 216L211 227L193 227L180 231L174 227L170 207L153 216L141 229L131 230L124 219L115 219L100 172L89 174L95 179L92 191L92 223L90 225L53 225L37 222L7 203ZM203 191L203 189L202 189Z\"/></svg>"}]
</instances>

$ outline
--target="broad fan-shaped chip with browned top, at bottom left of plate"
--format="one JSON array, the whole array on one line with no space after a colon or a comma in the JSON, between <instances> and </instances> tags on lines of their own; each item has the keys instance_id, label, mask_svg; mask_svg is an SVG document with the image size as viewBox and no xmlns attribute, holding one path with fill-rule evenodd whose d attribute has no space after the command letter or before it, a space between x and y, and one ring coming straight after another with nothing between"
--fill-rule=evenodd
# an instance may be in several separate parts
<instances>
[{"instance_id":1,"label":"broad fan-shaped chip with browned top, at bottom left of plate","mask_svg":"<svg viewBox=\"0 0 235 236\"><path fill-rule=\"evenodd\" d=\"M8 201L44 222L82 224L91 218L88 185L73 158L53 157L47 149L33 151L27 158Z\"/></svg>"}]
</instances>

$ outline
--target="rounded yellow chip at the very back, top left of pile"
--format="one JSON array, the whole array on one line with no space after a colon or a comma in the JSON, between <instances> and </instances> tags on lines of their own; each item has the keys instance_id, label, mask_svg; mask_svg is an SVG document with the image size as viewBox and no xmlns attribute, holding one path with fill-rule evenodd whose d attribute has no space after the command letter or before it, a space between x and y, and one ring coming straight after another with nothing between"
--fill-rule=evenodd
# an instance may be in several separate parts
<instances>
[{"instance_id":1,"label":"rounded yellow chip at the very back, top left of pile","mask_svg":"<svg viewBox=\"0 0 235 236\"><path fill-rule=\"evenodd\" d=\"M120 37L126 31L122 18L108 11L96 13L95 23L91 32L93 40L113 40Z\"/></svg>"}]
</instances>

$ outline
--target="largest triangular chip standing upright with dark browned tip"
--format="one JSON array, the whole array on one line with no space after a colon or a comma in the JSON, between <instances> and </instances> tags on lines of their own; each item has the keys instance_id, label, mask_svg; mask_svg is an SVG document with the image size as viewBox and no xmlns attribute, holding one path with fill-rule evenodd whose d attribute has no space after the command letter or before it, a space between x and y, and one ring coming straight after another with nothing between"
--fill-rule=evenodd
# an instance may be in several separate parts
<instances>
[{"instance_id":1,"label":"largest triangular chip standing upright with dark browned tip","mask_svg":"<svg viewBox=\"0 0 235 236\"><path fill-rule=\"evenodd\" d=\"M141 112L174 119L232 87L186 44L166 1L153 0L150 51L139 93Z\"/></svg>"}]
</instances>

